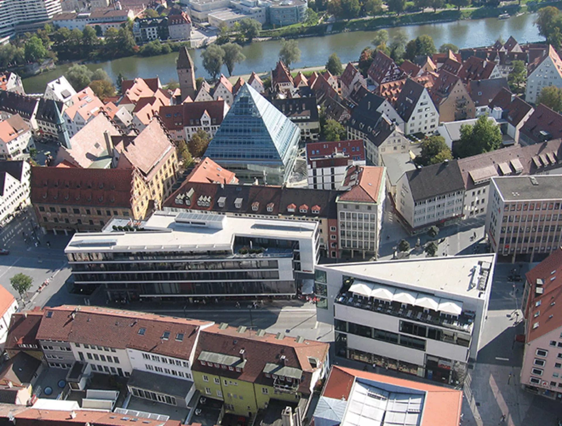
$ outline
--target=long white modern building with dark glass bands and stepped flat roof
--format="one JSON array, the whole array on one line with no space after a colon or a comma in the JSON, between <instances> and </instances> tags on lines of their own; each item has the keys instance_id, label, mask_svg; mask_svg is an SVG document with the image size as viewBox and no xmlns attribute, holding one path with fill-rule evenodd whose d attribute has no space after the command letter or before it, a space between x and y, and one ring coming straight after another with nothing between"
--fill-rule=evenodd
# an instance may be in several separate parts
<instances>
[{"instance_id":1,"label":"long white modern building with dark glass bands and stepped flat roof","mask_svg":"<svg viewBox=\"0 0 562 426\"><path fill-rule=\"evenodd\" d=\"M211 197L193 201L210 207ZM157 211L142 231L113 225L74 234L65 253L76 283L103 285L116 300L292 296L319 256L316 222Z\"/></svg>"}]
</instances>

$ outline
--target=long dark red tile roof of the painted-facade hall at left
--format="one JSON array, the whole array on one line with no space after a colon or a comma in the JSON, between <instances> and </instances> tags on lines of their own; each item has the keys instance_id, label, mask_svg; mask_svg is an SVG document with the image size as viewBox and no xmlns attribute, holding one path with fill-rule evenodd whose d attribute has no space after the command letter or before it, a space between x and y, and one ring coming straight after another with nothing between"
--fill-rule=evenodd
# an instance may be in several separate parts
<instances>
[{"instance_id":1,"label":"long dark red tile roof of the painted-facade hall at left","mask_svg":"<svg viewBox=\"0 0 562 426\"><path fill-rule=\"evenodd\" d=\"M131 207L132 169L31 167L31 202L94 207Z\"/></svg>"}]
</instances>

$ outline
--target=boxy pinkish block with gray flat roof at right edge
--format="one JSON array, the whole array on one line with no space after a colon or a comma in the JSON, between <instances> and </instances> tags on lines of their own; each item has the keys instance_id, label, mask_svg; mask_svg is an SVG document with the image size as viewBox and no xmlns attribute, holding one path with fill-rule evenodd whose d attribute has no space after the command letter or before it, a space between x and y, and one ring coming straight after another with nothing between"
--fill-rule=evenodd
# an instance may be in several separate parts
<instances>
[{"instance_id":1,"label":"boxy pinkish block with gray flat roof at right edge","mask_svg":"<svg viewBox=\"0 0 562 426\"><path fill-rule=\"evenodd\" d=\"M512 261L542 260L560 247L562 189L559 175L492 178L486 234L492 251Z\"/></svg>"}]
</instances>

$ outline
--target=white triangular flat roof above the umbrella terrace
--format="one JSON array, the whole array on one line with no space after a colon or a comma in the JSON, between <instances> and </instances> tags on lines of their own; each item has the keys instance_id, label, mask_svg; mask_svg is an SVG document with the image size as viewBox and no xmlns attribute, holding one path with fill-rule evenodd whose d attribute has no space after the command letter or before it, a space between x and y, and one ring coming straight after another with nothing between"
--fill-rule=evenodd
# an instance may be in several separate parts
<instances>
[{"instance_id":1,"label":"white triangular flat roof above the umbrella terrace","mask_svg":"<svg viewBox=\"0 0 562 426\"><path fill-rule=\"evenodd\" d=\"M317 265L324 270L337 270L342 274L368 282L429 293L446 292L463 297L478 298L482 291L489 292L492 285L495 254L428 257L427 259L388 260L336 265ZM483 266L483 267L482 267ZM488 270L486 276L485 272ZM484 272L484 275L482 275ZM484 287L483 287L484 285ZM485 288L484 290L482 288ZM366 291L366 287L364 288ZM371 294L373 296L373 294ZM442 300L445 301L445 300ZM428 301L429 302L429 301ZM436 300L439 303L439 300ZM457 309L447 305L448 310Z\"/></svg>"}]
</instances>

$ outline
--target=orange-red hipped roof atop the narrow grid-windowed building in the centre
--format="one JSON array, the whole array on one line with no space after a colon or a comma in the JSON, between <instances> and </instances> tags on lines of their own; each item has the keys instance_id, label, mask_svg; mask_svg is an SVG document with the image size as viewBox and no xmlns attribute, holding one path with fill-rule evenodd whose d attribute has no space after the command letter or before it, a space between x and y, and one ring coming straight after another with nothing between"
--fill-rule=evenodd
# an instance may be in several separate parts
<instances>
[{"instance_id":1,"label":"orange-red hipped roof atop the narrow grid-windowed building in the centre","mask_svg":"<svg viewBox=\"0 0 562 426\"><path fill-rule=\"evenodd\" d=\"M343 185L351 186L351 189L341 194L338 201L382 202L383 200L379 200L382 184L384 184L384 167L351 166L343 181ZM384 198L384 194L382 196Z\"/></svg>"}]
</instances>

